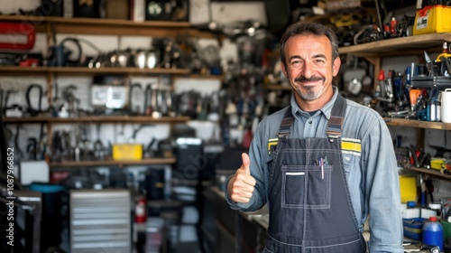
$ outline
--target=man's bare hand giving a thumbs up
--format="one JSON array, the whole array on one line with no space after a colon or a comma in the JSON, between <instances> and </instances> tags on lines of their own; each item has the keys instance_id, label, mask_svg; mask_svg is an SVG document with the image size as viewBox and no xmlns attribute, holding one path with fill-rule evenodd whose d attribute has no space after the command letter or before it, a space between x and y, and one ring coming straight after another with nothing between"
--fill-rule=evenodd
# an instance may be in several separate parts
<instances>
[{"instance_id":1,"label":"man's bare hand giving a thumbs up","mask_svg":"<svg viewBox=\"0 0 451 253\"><path fill-rule=\"evenodd\" d=\"M241 155L243 164L236 170L234 176L230 178L227 184L227 192L232 201L238 203L247 203L253 196L253 190L255 185L255 179L251 175L250 164L251 160L249 155L243 153Z\"/></svg>"}]
</instances>

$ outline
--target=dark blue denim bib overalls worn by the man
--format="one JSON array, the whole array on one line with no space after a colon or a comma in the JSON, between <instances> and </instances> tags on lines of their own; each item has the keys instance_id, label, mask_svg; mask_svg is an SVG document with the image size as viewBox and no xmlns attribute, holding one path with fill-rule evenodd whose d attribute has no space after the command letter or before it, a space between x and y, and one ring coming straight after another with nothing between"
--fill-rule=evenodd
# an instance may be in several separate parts
<instances>
[{"instance_id":1,"label":"dark blue denim bib overalls worn by the man","mask_svg":"<svg viewBox=\"0 0 451 253\"><path fill-rule=\"evenodd\" d=\"M281 122L269 165L270 225L264 252L361 253L341 155L345 98L338 94L327 138L290 139L291 108Z\"/></svg>"}]
</instances>

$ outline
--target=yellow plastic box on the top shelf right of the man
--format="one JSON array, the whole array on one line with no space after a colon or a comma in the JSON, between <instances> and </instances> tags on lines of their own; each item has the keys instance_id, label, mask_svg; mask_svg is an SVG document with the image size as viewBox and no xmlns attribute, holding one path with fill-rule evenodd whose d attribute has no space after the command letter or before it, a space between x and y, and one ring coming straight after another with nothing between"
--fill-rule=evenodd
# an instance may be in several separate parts
<instances>
[{"instance_id":1,"label":"yellow plastic box on the top shelf right of the man","mask_svg":"<svg viewBox=\"0 0 451 253\"><path fill-rule=\"evenodd\" d=\"M430 5L417 11L413 35L451 32L451 6Z\"/></svg>"}]
</instances>

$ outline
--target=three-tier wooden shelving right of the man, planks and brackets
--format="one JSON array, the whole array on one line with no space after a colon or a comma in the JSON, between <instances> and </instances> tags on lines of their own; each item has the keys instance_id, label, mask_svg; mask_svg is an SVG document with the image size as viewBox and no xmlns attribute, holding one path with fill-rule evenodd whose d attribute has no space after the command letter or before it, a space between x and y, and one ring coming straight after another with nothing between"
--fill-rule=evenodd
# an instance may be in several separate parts
<instances>
[{"instance_id":1,"label":"three-tier wooden shelving right of the man, planks and brackets","mask_svg":"<svg viewBox=\"0 0 451 253\"><path fill-rule=\"evenodd\" d=\"M451 33L429 33L417 36L393 38L378 42L369 42L360 45L342 47L340 54L352 54L363 57L374 65L374 83L377 82L378 74L381 70L382 58L387 56L400 55L423 55L424 51L440 52L443 42L451 42ZM450 123L428 122L404 118L386 117L385 122L389 126L406 126L417 128L418 144L424 145L425 129L451 130ZM442 174L436 170L411 167L419 173L427 173L444 179L451 179L451 176Z\"/></svg>"}]
</instances>

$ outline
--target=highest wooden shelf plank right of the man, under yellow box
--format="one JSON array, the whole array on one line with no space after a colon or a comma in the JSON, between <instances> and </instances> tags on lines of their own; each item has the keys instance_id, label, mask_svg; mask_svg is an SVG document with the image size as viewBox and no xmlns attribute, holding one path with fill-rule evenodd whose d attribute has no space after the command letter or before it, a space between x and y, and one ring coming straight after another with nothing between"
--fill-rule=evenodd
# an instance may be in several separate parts
<instances>
[{"instance_id":1,"label":"highest wooden shelf plank right of the man, under yellow box","mask_svg":"<svg viewBox=\"0 0 451 253\"><path fill-rule=\"evenodd\" d=\"M440 49L443 42L446 41L451 41L451 33L429 33L341 47L339 52L362 57L381 56L382 54L405 55L407 50L409 52L412 50L422 51L433 47Z\"/></svg>"}]
</instances>

